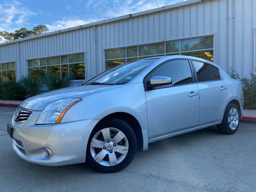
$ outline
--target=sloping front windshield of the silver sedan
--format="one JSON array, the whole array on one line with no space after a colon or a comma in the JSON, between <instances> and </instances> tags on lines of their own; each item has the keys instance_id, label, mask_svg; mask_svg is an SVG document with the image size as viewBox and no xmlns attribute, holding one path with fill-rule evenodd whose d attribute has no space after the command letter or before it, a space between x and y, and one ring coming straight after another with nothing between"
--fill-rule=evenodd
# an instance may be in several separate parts
<instances>
[{"instance_id":1,"label":"sloping front windshield of the silver sedan","mask_svg":"<svg viewBox=\"0 0 256 192\"><path fill-rule=\"evenodd\" d=\"M107 85L122 85L132 80L133 77L138 75L143 69L148 67L157 59L139 60L129 63L124 63L116 67L110 68L103 73L93 77L84 84L107 84Z\"/></svg>"}]
</instances>

